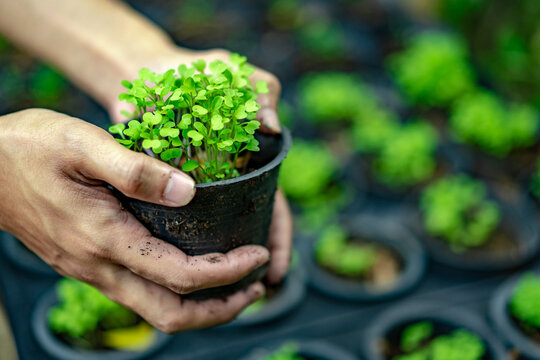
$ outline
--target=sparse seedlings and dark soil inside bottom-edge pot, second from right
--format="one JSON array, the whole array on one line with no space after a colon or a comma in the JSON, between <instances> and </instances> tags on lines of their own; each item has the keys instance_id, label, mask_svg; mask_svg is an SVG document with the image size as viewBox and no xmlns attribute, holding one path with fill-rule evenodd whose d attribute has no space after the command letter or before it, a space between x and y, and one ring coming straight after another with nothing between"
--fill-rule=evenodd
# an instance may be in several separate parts
<instances>
[{"instance_id":1,"label":"sparse seedlings and dark soil inside bottom-edge pot, second from right","mask_svg":"<svg viewBox=\"0 0 540 360\"><path fill-rule=\"evenodd\" d=\"M385 359L437 359L450 354L460 360L488 360L483 340L464 328L421 321L391 329L381 342Z\"/></svg>"}]
</instances>

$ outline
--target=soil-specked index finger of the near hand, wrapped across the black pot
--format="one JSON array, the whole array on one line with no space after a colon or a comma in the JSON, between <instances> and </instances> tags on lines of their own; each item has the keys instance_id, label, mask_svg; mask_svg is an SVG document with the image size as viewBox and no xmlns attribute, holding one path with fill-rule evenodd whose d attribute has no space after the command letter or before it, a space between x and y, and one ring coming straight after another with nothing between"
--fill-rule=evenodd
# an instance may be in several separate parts
<instances>
[{"instance_id":1,"label":"soil-specked index finger of the near hand, wrapped across the black pot","mask_svg":"<svg viewBox=\"0 0 540 360\"><path fill-rule=\"evenodd\" d=\"M225 254L188 256L177 247L152 237L135 217L126 212L112 234L109 259L145 279L178 294L233 284L270 259L266 248L246 245Z\"/></svg>"}]
</instances>

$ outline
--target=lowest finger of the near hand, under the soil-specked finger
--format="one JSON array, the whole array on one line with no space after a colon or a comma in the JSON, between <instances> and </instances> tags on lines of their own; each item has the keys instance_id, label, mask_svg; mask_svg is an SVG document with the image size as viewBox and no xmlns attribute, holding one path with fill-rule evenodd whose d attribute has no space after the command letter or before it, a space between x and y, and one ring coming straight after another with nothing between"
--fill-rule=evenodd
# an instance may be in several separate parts
<instances>
[{"instance_id":1,"label":"lowest finger of the near hand, under the soil-specked finger","mask_svg":"<svg viewBox=\"0 0 540 360\"><path fill-rule=\"evenodd\" d=\"M113 301L135 311L166 333L214 326L234 319L246 306L264 294L255 283L225 299L184 300L178 294L118 267L113 281L101 286Z\"/></svg>"}]
</instances>

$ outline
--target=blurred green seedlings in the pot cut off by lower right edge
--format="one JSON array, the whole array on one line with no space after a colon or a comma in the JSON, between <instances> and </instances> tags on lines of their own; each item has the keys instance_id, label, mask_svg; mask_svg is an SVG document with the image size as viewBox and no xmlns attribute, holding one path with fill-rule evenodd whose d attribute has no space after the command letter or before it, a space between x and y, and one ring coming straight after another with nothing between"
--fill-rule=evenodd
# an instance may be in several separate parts
<instances>
[{"instance_id":1,"label":"blurred green seedlings in the pot cut off by lower right edge","mask_svg":"<svg viewBox=\"0 0 540 360\"><path fill-rule=\"evenodd\" d=\"M510 313L531 330L540 330L540 276L529 273L517 284L509 304Z\"/></svg>"}]
</instances>

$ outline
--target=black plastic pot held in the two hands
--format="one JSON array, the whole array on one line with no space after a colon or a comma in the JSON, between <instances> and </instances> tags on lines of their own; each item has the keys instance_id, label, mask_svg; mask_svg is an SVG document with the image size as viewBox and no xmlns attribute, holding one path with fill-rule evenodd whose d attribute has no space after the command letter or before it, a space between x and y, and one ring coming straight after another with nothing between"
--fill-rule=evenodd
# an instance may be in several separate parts
<instances>
[{"instance_id":1,"label":"black plastic pot held in the two hands","mask_svg":"<svg viewBox=\"0 0 540 360\"><path fill-rule=\"evenodd\" d=\"M283 128L281 135L257 134L256 137L261 150L252 154L248 164L248 168L256 170L230 180L197 184L195 197L184 207L151 204L118 191L116 195L153 236L187 255L225 253L248 244L266 246L279 165L289 151L291 136ZM235 284L184 297L196 300L226 297L260 279L264 270L259 268Z\"/></svg>"}]
</instances>

